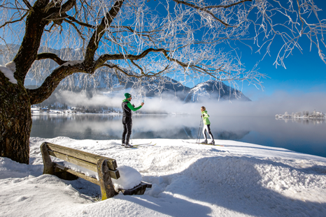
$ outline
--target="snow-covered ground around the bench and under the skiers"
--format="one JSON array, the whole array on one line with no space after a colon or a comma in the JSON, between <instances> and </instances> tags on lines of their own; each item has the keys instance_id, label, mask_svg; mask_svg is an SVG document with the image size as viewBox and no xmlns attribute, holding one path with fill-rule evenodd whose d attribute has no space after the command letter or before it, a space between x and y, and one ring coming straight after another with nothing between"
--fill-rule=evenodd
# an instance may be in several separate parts
<instances>
[{"instance_id":1,"label":"snow-covered ground around the bench and under the skiers","mask_svg":"<svg viewBox=\"0 0 326 217\"><path fill-rule=\"evenodd\" d=\"M115 158L153 187L99 201L97 185L42 174L44 141ZM150 141L31 137L29 165L0 158L0 216L326 216L326 158L229 140L133 143Z\"/></svg>"}]
</instances>

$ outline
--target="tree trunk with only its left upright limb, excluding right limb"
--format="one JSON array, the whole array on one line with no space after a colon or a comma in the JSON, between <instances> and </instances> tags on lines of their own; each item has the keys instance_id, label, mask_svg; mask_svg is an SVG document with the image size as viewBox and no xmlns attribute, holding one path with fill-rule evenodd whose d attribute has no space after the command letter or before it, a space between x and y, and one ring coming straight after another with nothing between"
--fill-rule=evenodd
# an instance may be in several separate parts
<instances>
[{"instance_id":1,"label":"tree trunk with only its left upright limb, excluding right limb","mask_svg":"<svg viewBox=\"0 0 326 217\"><path fill-rule=\"evenodd\" d=\"M13 59L17 84L11 83L0 72L0 154L19 163L29 163L31 102L24 88L24 79L36 59L48 23L41 10L47 3L48 0L37 0L27 15L24 38Z\"/></svg>"}]
</instances>

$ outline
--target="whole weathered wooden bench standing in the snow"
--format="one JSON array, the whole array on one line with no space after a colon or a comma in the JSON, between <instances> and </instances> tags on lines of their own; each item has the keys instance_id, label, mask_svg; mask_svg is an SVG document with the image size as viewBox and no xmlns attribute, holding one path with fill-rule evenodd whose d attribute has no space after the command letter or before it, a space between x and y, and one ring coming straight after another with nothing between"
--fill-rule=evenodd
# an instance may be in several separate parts
<instances>
[{"instance_id":1,"label":"whole weathered wooden bench standing in the snow","mask_svg":"<svg viewBox=\"0 0 326 217\"><path fill-rule=\"evenodd\" d=\"M41 144L41 153L44 165L43 174L54 174L57 177L66 180L78 179L78 177L80 177L94 184L97 184L101 187L101 200L106 200L107 198L118 194L118 192L115 191L111 180L111 178L120 178L119 170L117 170L117 162L115 159L106 158L97 154L90 154L85 151L78 151L68 147L62 147L60 145L52 144L49 142L43 142ZM71 170L59 163L52 162L50 156L65 160L80 167L84 167L87 170L97 172L99 180L93 177L88 177L81 172ZM118 191L121 191L124 195L143 195L146 188L151 187L152 184L141 181L141 184L132 189L119 189Z\"/></svg>"}]
</instances>

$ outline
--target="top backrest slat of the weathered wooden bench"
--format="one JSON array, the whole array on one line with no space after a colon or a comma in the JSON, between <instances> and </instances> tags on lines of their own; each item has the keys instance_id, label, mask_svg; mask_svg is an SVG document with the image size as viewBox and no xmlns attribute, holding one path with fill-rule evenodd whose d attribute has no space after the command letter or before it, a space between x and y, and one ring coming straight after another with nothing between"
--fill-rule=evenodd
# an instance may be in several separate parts
<instances>
[{"instance_id":1,"label":"top backrest slat of the weathered wooden bench","mask_svg":"<svg viewBox=\"0 0 326 217\"><path fill-rule=\"evenodd\" d=\"M85 151L79 151L79 150L71 149L68 147L62 147L57 144L52 144L49 142L46 142L46 144L48 146L49 151L57 151L60 154L72 156L72 157L78 158L78 159L87 160L88 162L94 163L94 164L97 164L97 160L104 158L104 159L108 160L108 168L110 170L115 170L118 167L117 162L113 158L106 158L104 156L99 156L97 154L91 154L91 153L87 153Z\"/></svg>"}]
</instances>

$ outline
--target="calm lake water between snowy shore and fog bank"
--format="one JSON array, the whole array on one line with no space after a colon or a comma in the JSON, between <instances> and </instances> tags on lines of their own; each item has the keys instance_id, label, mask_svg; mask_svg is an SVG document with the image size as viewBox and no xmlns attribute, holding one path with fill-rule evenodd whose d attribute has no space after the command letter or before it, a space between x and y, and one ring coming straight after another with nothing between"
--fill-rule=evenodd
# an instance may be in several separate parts
<instances>
[{"instance_id":1,"label":"calm lake water between snowy shore and fog bank","mask_svg":"<svg viewBox=\"0 0 326 217\"><path fill-rule=\"evenodd\" d=\"M110 114L34 115L31 137L71 137L77 140L118 140L122 116ZM250 142L326 157L326 123L316 120L276 120L274 117L213 117L215 139ZM196 139L199 115L134 115L132 138ZM209 137L208 137L209 138ZM201 139L203 135L201 134Z\"/></svg>"}]
</instances>

